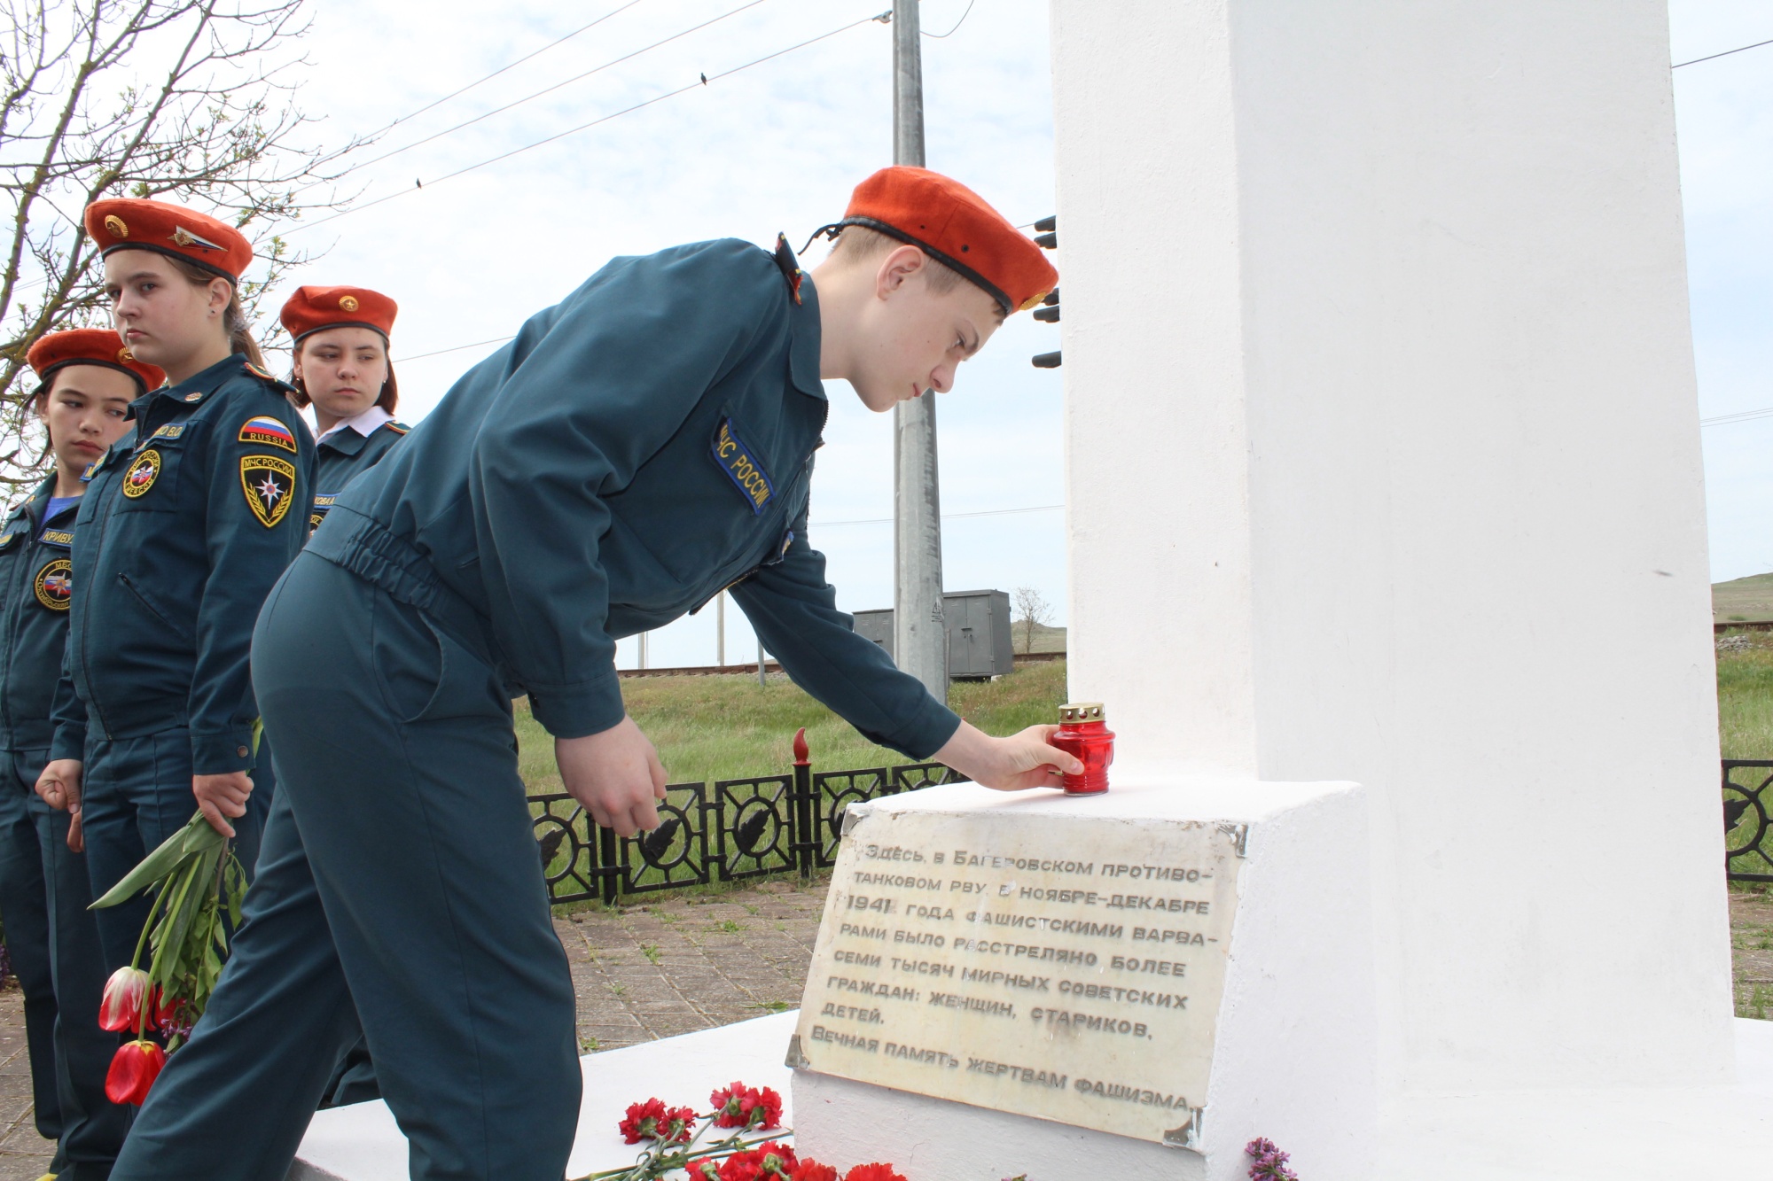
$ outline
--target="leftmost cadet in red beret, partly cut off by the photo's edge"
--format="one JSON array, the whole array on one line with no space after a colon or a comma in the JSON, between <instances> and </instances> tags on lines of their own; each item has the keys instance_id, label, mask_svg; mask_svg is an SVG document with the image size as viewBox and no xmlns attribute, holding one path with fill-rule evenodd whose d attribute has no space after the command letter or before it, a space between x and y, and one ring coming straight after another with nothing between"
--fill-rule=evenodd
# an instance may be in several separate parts
<instances>
[{"instance_id":1,"label":"leftmost cadet in red beret, partly cut off by the photo's edge","mask_svg":"<svg viewBox=\"0 0 1773 1181\"><path fill-rule=\"evenodd\" d=\"M25 1044L37 1131L55 1140L62 1181L110 1174L128 1108L105 1098L117 1036L98 1025L105 991L99 931L80 830L34 791L50 757L50 708L67 645L67 553L82 473L129 429L129 403L165 374L110 328L53 332L27 362L55 466L0 527L0 915L25 989Z\"/></svg>"}]
</instances>

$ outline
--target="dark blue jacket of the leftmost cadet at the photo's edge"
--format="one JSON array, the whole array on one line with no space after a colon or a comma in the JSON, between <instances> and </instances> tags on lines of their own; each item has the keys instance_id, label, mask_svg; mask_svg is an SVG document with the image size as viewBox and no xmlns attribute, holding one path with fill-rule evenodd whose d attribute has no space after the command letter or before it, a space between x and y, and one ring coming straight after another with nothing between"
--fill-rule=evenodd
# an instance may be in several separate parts
<instances>
[{"instance_id":1,"label":"dark blue jacket of the leftmost cadet at the photo's edge","mask_svg":"<svg viewBox=\"0 0 1773 1181\"><path fill-rule=\"evenodd\" d=\"M53 493L50 475L0 527L0 750L48 750L55 731L78 504L46 521Z\"/></svg>"}]
</instances>

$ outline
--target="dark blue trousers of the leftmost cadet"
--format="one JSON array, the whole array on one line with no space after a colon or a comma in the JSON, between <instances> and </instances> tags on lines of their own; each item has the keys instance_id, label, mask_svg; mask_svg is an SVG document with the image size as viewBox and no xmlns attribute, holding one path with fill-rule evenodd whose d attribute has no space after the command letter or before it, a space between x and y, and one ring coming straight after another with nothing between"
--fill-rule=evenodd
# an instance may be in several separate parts
<instances>
[{"instance_id":1,"label":"dark blue trousers of the leftmost cadet","mask_svg":"<svg viewBox=\"0 0 1773 1181\"><path fill-rule=\"evenodd\" d=\"M133 1108L105 1098L121 1039L99 1028L106 972L87 910L85 856L67 848L67 812L34 791L48 755L0 752L0 915L25 989L37 1131L59 1140L50 1170L64 1181L103 1181Z\"/></svg>"}]
</instances>

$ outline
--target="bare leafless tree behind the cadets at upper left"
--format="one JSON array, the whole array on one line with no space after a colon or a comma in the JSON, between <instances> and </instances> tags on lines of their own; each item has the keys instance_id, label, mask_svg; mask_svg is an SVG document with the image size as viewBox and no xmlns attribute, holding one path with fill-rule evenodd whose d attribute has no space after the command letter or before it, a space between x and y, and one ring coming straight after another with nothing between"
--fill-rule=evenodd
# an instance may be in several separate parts
<instances>
[{"instance_id":1,"label":"bare leafless tree behind the cadets at upper left","mask_svg":"<svg viewBox=\"0 0 1773 1181\"><path fill-rule=\"evenodd\" d=\"M291 266L282 231L335 209L360 142L305 142L293 71L307 0L11 0L0 12L0 488L41 475L25 364L50 332L110 323L80 223L99 197L160 197L252 241L248 314Z\"/></svg>"}]
</instances>

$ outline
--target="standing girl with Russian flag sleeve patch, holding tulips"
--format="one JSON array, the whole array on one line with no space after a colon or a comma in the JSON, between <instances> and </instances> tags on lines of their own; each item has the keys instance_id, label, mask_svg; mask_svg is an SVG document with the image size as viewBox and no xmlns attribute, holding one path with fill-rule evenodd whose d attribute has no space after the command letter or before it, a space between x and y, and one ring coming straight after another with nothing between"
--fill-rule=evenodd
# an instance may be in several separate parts
<instances>
[{"instance_id":1,"label":"standing girl with Russian flag sleeve patch, holding tulips","mask_svg":"<svg viewBox=\"0 0 1773 1181\"><path fill-rule=\"evenodd\" d=\"M92 894L200 809L246 872L273 791L246 656L271 583L301 550L314 443L259 358L236 285L252 246L156 200L87 206L124 344L168 381L92 470L74 528L55 761L39 791L78 807ZM106 966L147 901L98 911Z\"/></svg>"}]
</instances>

